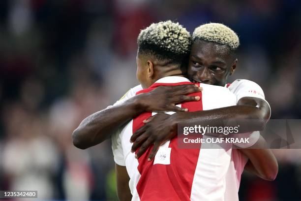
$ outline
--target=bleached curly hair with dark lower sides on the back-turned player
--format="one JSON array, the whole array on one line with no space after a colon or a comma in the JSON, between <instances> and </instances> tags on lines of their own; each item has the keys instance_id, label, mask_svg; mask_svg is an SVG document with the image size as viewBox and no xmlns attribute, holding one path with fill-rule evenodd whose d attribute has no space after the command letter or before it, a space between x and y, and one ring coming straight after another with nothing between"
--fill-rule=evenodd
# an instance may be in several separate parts
<instances>
[{"instance_id":1,"label":"bleached curly hair with dark lower sides on the back-turned player","mask_svg":"<svg viewBox=\"0 0 301 201\"><path fill-rule=\"evenodd\" d=\"M151 53L159 59L177 60L190 52L190 33L170 20L153 23L138 36L140 53ZM180 58L179 58L180 57Z\"/></svg>"}]
</instances>

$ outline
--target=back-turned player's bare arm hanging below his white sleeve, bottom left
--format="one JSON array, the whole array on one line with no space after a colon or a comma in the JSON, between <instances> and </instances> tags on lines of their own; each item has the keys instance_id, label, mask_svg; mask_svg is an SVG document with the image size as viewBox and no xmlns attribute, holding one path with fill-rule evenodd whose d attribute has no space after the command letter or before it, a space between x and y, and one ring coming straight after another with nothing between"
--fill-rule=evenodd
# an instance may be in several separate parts
<instances>
[{"instance_id":1,"label":"back-turned player's bare arm hanging below his white sleeve, bottom left","mask_svg":"<svg viewBox=\"0 0 301 201\"><path fill-rule=\"evenodd\" d=\"M128 182L130 180L126 168L115 164L116 179L117 179L117 195L120 201L131 201L132 194L129 189Z\"/></svg>"}]
</instances>

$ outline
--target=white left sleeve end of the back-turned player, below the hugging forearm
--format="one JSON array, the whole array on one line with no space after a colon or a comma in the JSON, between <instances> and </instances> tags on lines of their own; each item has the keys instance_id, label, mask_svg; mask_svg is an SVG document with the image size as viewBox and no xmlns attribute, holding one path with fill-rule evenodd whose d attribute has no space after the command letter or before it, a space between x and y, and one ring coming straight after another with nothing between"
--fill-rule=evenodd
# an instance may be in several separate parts
<instances>
[{"instance_id":1,"label":"white left sleeve end of the back-turned player, below the hugging forearm","mask_svg":"<svg viewBox=\"0 0 301 201\"><path fill-rule=\"evenodd\" d=\"M123 155L123 149L121 144L120 129L118 132L112 135L112 151L114 155L114 161L117 165L125 166L125 160Z\"/></svg>"}]
</instances>

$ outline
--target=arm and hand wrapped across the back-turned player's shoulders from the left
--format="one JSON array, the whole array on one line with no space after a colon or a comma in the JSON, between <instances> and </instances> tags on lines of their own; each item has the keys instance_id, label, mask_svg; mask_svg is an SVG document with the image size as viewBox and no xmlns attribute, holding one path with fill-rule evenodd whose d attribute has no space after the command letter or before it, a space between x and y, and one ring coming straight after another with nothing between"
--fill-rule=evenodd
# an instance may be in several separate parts
<instances>
[{"instance_id":1,"label":"arm and hand wrapped across the back-turned player's shoulders from the left","mask_svg":"<svg viewBox=\"0 0 301 201\"><path fill-rule=\"evenodd\" d=\"M145 111L187 111L176 103L196 101L199 97L185 96L202 89L195 85L160 86L149 93L139 94L121 105L113 106L85 118L72 133L73 144L86 149L108 139L126 122Z\"/></svg>"}]
</instances>

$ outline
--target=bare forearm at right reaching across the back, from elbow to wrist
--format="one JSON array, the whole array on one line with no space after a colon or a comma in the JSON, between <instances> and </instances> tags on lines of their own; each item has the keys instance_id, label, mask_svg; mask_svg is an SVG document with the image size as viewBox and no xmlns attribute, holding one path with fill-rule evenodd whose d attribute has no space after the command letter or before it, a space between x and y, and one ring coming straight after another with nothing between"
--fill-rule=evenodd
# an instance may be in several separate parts
<instances>
[{"instance_id":1,"label":"bare forearm at right reaching across the back, from elbow to wrist","mask_svg":"<svg viewBox=\"0 0 301 201\"><path fill-rule=\"evenodd\" d=\"M251 105L235 105L218 109L176 113L177 124L210 127L237 127L240 133L261 131L268 119L264 119L260 108Z\"/></svg>"}]
</instances>

